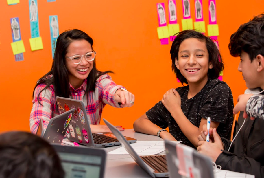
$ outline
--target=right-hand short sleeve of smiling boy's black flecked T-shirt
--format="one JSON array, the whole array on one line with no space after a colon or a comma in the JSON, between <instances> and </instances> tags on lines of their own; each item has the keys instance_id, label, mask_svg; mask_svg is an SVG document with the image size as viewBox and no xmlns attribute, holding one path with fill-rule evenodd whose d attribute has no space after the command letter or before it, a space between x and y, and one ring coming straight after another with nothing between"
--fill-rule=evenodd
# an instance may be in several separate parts
<instances>
[{"instance_id":1,"label":"right-hand short sleeve of smiling boy's black flecked T-shirt","mask_svg":"<svg viewBox=\"0 0 264 178\"><path fill-rule=\"evenodd\" d=\"M228 112L231 111L228 111L230 109L228 106L230 98L232 98L231 89L224 83L216 84L206 96L199 115L202 118L211 117L211 121L214 122L225 123Z\"/></svg>"}]
</instances>

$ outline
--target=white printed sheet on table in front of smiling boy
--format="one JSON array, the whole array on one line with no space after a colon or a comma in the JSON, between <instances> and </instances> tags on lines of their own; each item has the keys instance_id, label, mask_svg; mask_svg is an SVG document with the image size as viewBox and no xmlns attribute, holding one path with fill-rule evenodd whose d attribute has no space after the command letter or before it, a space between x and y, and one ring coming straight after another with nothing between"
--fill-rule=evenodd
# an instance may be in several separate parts
<instances>
[{"instance_id":1,"label":"white printed sheet on table in front of smiling boy","mask_svg":"<svg viewBox=\"0 0 264 178\"><path fill-rule=\"evenodd\" d=\"M174 143L178 144L180 142ZM136 141L136 143L132 143L130 146L132 146L138 155L156 155L162 151L165 151L164 141ZM108 152L108 154L128 155L128 152L122 146Z\"/></svg>"}]
</instances>

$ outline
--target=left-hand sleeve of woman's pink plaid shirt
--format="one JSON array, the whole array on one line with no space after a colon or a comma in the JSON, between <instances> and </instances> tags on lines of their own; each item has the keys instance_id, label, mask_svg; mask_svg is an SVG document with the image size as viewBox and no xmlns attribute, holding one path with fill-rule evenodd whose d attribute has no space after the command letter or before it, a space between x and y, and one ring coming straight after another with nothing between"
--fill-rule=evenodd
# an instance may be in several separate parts
<instances>
[{"instance_id":1,"label":"left-hand sleeve of woman's pink plaid shirt","mask_svg":"<svg viewBox=\"0 0 264 178\"><path fill-rule=\"evenodd\" d=\"M39 121L42 118L43 128L46 129L51 119L52 110L51 103L53 103L54 96L52 90L48 87L40 93L42 89L45 88L45 84L40 84L36 87L33 98L33 106L30 113L29 125L30 131L35 134L39 125ZM38 102L38 94L39 102Z\"/></svg>"}]
</instances>

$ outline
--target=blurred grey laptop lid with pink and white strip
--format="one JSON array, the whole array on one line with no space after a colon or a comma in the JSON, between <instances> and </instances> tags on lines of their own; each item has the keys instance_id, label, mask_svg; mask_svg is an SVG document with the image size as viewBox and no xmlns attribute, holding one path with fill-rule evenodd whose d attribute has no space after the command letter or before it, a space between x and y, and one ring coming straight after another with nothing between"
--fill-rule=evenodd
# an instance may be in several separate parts
<instances>
[{"instance_id":1,"label":"blurred grey laptop lid with pink and white strip","mask_svg":"<svg viewBox=\"0 0 264 178\"><path fill-rule=\"evenodd\" d=\"M214 178L211 159L195 149L165 140L167 163L170 177ZM187 155L184 157L184 155ZM190 176L192 175L192 176Z\"/></svg>"}]
</instances>

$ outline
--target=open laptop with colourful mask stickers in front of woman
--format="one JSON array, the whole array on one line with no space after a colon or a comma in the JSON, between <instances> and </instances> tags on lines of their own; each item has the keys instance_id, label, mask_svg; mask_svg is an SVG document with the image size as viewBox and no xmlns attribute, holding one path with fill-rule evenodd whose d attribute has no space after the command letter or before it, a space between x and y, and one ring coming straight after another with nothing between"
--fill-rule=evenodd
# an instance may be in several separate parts
<instances>
[{"instance_id":1,"label":"open laptop with colourful mask stickers in front of woman","mask_svg":"<svg viewBox=\"0 0 264 178\"><path fill-rule=\"evenodd\" d=\"M91 147L108 147L121 144L113 133L91 132L90 119L86 114L84 103L81 100L74 100L57 96L56 101L61 113L68 111L70 108L75 109L73 118L69 124L69 129L66 131L67 139ZM136 142L136 139L134 138L125 138L129 143Z\"/></svg>"}]
</instances>

